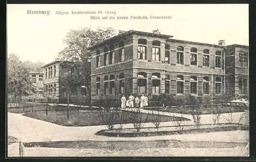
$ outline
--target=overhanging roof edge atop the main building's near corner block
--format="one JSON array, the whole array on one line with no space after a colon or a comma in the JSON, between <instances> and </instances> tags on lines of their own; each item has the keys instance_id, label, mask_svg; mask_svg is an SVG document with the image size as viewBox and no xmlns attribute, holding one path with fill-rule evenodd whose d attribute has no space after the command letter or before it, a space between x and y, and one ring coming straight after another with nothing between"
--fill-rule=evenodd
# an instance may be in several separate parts
<instances>
[{"instance_id":1,"label":"overhanging roof edge atop the main building's near corner block","mask_svg":"<svg viewBox=\"0 0 256 162\"><path fill-rule=\"evenodd\" d=\"M146 36L155 36L155 37L162 37L162 38L172 38L173 35L165 35L165 34L158 34L158 33L148 33L148 32L141 32L141 31L135 31L135 30L130 30L130 31L127 31L127 32L124 32L124 33L121 33L121 34L118 34L110 39L107 39L107 40L104 40L104 41L101 41L99 43L96 43L94 45L92 45L91 47L88 48L88 50L91 50L91 49L94 49L95 47L97 47L98 45L100 44L104 44L110 40L113 40L113 39L116 39L118 37L121 37L121 36L124 36L124 35L132 35L132 34L138 34L138 35L146 35Z\"/></svg>"}]
</instances>

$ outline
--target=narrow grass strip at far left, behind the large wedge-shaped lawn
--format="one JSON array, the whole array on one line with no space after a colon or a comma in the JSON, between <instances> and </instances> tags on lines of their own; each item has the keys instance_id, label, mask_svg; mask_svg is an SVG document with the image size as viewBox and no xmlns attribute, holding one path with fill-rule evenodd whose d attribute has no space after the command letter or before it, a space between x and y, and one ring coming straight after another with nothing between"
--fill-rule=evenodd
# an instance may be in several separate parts
<instances>
[{"instance_id":1,"label":"narrow grass strip at far left, behind the large wedge-shaped lawn","mask_svg":"<svg viewBox=\"0 0 256 162\"><path fill-rule=\"evenodd\" d=\"M63 106L63 105L59 105L59 106L48 106L47 110L48 111L63 111L63 110L67 110L68 106ZM79 108L80 110L90 110L90 108L88 107L76 107L76 106L70 106L69 109L70 110L77 110L77 108ZM93 108L93 110L99 110L99 108ZM46 105L45 104L38 104L36 106L30 106L30 107L8 107L7 108L8 112L12 112L12 113L26 113L26 112L32 112L32 111L46 111Z\"/></svg>"}]
</instances>

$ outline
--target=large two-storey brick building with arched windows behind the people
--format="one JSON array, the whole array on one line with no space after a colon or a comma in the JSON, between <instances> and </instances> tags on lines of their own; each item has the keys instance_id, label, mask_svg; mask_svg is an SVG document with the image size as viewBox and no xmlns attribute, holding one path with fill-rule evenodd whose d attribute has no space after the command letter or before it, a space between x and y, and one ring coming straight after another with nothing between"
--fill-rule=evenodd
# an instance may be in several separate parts
<instances>
[{"instance_id":1,"label":"large two-storey brick building with arched windows behind the people","mask_svg":"<svg viewBox=\"0 0 256 162\"><path fill-rule=\"evenodd\" d=\"M224 94L227 89L244 95L246 91L240 88L248 91L248 47L225 47L172 37L158 31L128 31L93 45L92 100L130 94L146 94L150 99L159 94L209 96ZM232 55L227 55L228 51ZM240 66L239 51L247 54L246 67L244 63ZM236 64L232 70L224 61L231 56ZM239 78L243 78L243 86Z\"/></svg>"}]
</instances>

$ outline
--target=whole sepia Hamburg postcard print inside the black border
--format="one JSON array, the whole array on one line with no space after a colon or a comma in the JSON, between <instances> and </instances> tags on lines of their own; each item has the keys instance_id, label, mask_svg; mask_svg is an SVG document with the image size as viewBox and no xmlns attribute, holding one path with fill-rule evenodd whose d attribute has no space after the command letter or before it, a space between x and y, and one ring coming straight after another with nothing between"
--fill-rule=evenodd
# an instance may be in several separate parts
<instances>
[{"instance_id":1,"label":"whole sepia Hamburg postcard print inside the black border","mask_svg":"<svg viewBox=\"0 0 256 162\"><path fill-rule=\"evenodd\" d=\"M7 4L7 158L249 156L248 4Z\"/></svg>"}]
</instances>

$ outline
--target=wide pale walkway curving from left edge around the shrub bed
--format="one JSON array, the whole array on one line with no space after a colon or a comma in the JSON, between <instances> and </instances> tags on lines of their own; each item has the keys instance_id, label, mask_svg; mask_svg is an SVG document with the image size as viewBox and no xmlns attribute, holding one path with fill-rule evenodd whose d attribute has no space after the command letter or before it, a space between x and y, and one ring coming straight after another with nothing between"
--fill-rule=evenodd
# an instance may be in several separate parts
<instances>
[{"instance_id":1,"label":"wide pale walkway curving from left edge around the shrub bed","mask_svg":"<svg viewBox=\"0 0 256 162\"><path fill-rule=\"evenodd\" d=\"M148 110L145 110L148 111ZM239 119L241 113L234 113L236 122ZM166 114L167 115L167 114ZM168 115L171 115L170 113ZM221 118L223 123L225 120ZM212 120L209 115L202 115L202 124L210 124ZM184 121L184 125L193 125L193 121ZM162 122L160 126L173 126L172 122ZM153 127L152 123L145 123L144 127ZM123 128L133 128L133 124L125 124ZM166 136L149 136L149 137L107 137L95 135L99 130L107 129L105 126L87 126L87 127L67 127L52 124L49 122L44 122L36 120L33 118L25 117L22 114L10 113L8 112L8 135L19 138L23 142L41 142L41 141L81 141L81 140L99 140L99 141L119 141L119 140L159 140L159 139L175 139L175 140L185 140L185 141L205 141L205 135L208 136L208 140L217 141L236 141L238 138L247 138L245 135L247 131L234 132L234 134L227 134L230 132L221 132L226 135L218 135L220 132L215 133L200 133L195 134L183 134L183 135L166 135ZM241 134L242 133L242 134ZM219 138L216 138L216 135ZM242 135L242 136L241 136ZM231 141L232 141L231 140Z\"/></svg>"}]
</instances>

